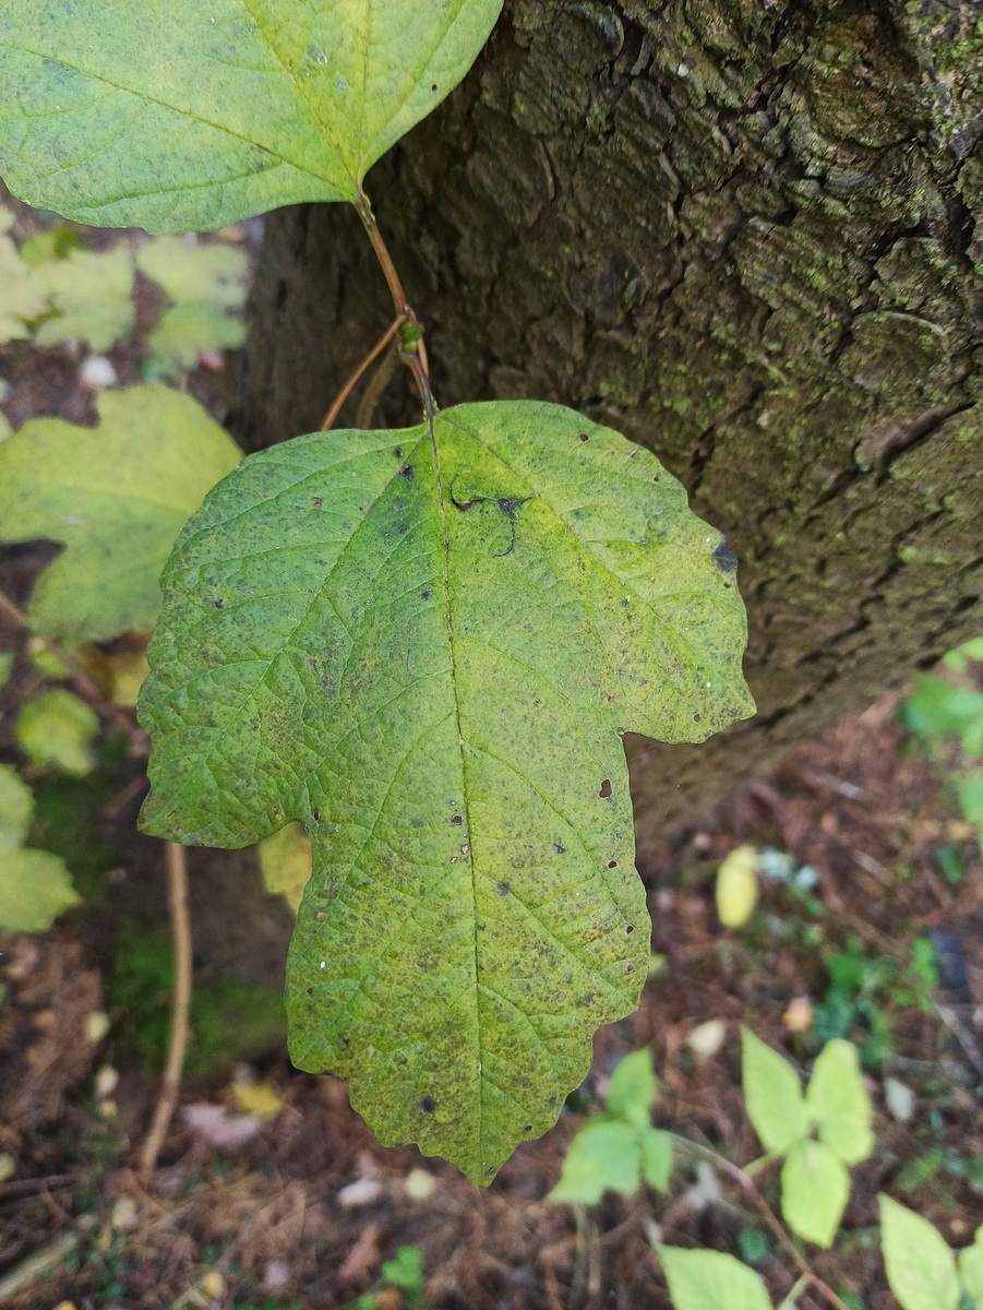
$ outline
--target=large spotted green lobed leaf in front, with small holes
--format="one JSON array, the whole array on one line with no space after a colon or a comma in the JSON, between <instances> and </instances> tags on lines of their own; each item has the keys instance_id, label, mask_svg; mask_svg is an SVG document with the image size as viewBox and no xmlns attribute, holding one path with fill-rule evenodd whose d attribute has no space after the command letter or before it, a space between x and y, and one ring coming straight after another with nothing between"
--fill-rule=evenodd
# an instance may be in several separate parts
<instances>
[{"instance_id":1,"label":"large spotted green lobed leaf in front, with small holes","mask_svg":"<svg viewBox=\"0 0 983 1310\"><path fill-rule=\"evenodd\" d=\"M291 1049L349 1079L381 1141L487 1182L636 1007L619 734L702 740L751 709L720 545L654 456L530 402L448 410L433 441L298 438L185 529L144 824L308 829Z\"/></svg>"}]
</instances>

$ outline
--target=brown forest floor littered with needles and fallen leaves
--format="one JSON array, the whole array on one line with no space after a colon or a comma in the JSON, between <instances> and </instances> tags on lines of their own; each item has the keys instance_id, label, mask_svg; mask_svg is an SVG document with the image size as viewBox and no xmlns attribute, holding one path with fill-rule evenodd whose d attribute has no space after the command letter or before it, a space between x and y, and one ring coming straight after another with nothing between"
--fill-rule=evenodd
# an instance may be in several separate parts
<instances>
[{"instance_id":1,"label":"brown forest floor littered with needles and fallen leaves","mask_svg":"<svg viewBox=\"0 0 983 1310\"><path fill-rule=\"evenodd\" d=\"M137 380L140 350L137 335L109 352L120 381ZM80 360L72 346L1 347L13 426L93 422ZM224 364L207 365L183 383L221 418ZM0 558L21 604L38 562L20 548ZM12 719L41 675L9 624L0 648L17 654L0 760L20 762ZM487 1189L415 1148L380 1148L342 1082L291 1068L277 998L291 914L253 852L204 850L191 852L196 1000L181 1110L140 1182L170 986L162 848L135 831L144 762L110 741L88 778L38 774L31 842L67 857L84 905L47 934L0 934L0 1307L662 1310L653 1241L743 1254L777 1303L795 1264L706 1162L682 1158L669 1195L547 1200L618 1058L641 1047L660 1078L657 1125L741 1166L759 1157L741 1091L746 1024L802 1065L832 1036L860 1047L877 1148L852 1170L832 1250L806 1254L855 1305L889 1310L878 1192L954 1247L983 1218L983 862L897 709L893 697L844 719L700 824L645 834L641 1006L598 1034L558 1125ZM724 930L716 871L746 842L787 857L766 857L787 876L764 879L749 922ZM776 1207L777 1170L757 1180ZM406 1247L394 1272L386 1262ZM822 1303L813 1290L798 1300Z\"/></svg>"}]
</instances>

